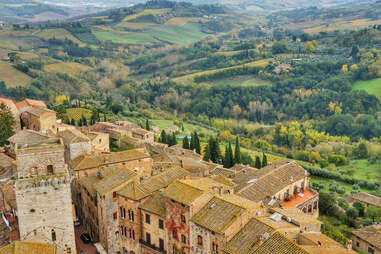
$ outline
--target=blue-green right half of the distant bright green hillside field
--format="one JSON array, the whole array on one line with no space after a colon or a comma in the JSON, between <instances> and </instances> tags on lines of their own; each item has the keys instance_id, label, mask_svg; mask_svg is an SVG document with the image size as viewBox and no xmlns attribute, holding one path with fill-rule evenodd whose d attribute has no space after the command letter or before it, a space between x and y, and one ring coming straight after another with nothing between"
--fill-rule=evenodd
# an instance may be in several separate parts
<instances>
[{"instance_id":1,"label":"blue-green right half of the distant bright green hillside field","mask_svg":"<svg viewBox=\"0 0 381 254\"><path fill-rule=\"evenodd\" d=\"M152 27L145 33L158 40L180 45L196 42L206 35L201 32L200 24L196 23L186 23L183 26Z\"/></svg>"}]
</instances>

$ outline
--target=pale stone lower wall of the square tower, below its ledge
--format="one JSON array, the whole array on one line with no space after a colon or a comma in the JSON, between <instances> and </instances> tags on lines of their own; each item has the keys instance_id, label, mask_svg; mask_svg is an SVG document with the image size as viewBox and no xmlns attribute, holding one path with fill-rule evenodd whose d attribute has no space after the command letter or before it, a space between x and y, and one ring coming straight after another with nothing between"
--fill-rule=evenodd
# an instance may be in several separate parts
<instances>
[{"instance_id":1,"label":"pale stone lower wall of the square tower, below its ledge","mask_svg":"<svg viewBox=\"0 0 381 254\"><path fill-rule=\"evenodd\" d=\"M18 179L15 185L21 240L76 253L69 175Z\"/></svg>"}]
</instances>

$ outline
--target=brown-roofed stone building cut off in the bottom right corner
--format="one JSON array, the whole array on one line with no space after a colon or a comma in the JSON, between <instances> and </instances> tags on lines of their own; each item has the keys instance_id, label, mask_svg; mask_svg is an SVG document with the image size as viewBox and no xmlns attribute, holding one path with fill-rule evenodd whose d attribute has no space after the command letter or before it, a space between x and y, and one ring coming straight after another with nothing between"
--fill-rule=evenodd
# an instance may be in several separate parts
<instances>
[{"instance_id":1,"label":"brown-roofed stone building cut off in the bottom right corner","mask_svg":"<svg viewBox=\"0 0 381 254\"><path fill-rule=\"evenodd\" d=\"M354 250L369 254L381 253L381 225L371 225L352 232Z\"/></svg>"}]
</instances>

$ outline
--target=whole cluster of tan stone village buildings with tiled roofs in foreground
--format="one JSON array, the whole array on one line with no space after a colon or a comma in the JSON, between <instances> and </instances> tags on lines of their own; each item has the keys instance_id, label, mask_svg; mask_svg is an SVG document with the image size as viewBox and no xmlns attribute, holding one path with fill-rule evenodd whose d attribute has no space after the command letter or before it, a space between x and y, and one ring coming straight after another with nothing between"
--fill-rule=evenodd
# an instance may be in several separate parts
<instances>
[{"instance_id":1,"label":"whole cluster of tan stone village buildings with tiled roofs in foreground","mask_svg":"<svg viewBox=\"0 0 381 254\"><path fill-rule=\"evenodd\" d=\"M42 101L0 102L17 119L0 153L0 254L356 253L321 233L294 161L227 169L130 122L77 128ZM126 136L139 148L110 152Z\"/></svg>"}]
</instances>

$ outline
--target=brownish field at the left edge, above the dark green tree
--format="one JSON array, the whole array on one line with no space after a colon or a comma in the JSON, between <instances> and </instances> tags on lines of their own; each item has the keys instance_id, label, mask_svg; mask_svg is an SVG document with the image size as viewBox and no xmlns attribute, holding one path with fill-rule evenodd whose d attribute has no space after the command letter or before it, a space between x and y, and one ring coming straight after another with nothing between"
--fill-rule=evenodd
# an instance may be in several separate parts
<instances>
[{"instance_id":1,"label":"brownish field at the left edge, above the dark green tree","mask_svg":"<svg viewBox=\"0 0 381 254\"><path fill-rule=\"evenodd\" d=\"M32 78L15 69L10 63L0 61L0 81L4 81L7 87L27 86Z\"/></svg>"}]
</instances>

